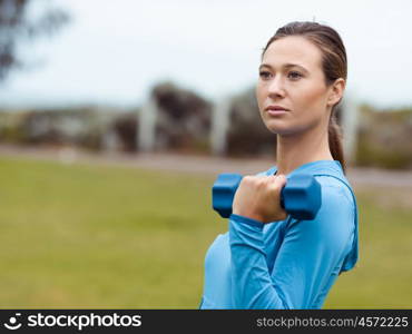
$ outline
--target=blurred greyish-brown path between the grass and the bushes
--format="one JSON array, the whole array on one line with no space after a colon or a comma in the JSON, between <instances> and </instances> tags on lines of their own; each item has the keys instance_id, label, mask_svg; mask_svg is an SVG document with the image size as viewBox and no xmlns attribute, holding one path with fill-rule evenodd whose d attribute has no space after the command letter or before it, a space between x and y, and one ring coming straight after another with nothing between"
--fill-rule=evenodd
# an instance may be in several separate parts
<instances>
[{"instance_id":1,"label":"blurred greyish-brown path between the grass and the bushes","mask_svg":"<svg viewBox=\"0 0 412 334\"><path fill-rule=\"evenodd\" d=\"M30 157L52 159L65 164L97 163L129 167L176 170L183 173L200 173L217 175L219 173L255 174L268 169L274 161L271 159L230 159L207 156L187 156L174 154L90 154L71 148L33 148L0 145L0 157ZM385 170L377 168L349 168L347 178L356 186L384 186L412 189L412 170ZM412 199L411 199L412 202Z\"/></svg>"}]
</instances>

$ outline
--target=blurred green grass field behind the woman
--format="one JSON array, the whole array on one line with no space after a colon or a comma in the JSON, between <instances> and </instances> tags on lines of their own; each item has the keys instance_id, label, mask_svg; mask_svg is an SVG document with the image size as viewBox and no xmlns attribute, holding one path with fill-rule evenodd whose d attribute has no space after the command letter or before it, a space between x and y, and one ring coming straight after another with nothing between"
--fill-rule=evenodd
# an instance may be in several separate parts
<instances>
[{"instance_id":1,"label":"blurred green grass field behind the woman","mask_svg":"<svg viewBox=\"0 0 412 334\"><path fill-rule=\"evenodd\" d=\"M3 157L0 179L0 307L197 308L227 228L213 176ZM375 191L356 193L361 261L324 308L412 307L412 208Z\"/></svg>"}]
</instances>

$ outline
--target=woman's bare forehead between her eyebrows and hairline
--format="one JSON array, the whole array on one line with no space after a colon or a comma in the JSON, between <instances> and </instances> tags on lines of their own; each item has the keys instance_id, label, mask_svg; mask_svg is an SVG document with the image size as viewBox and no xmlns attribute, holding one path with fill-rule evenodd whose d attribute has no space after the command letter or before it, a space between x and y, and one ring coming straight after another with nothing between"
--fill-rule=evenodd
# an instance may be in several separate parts
<instances>
[{"instance_id":1,"label":"woman's bare forehead between her eyebrows and hairline","mask_svg":"<svg viewBox=\"0 0 412 334\"><path fill-rule=\"evenodd\" d=\"M288 36L272 42L262 62L274 67L293 62L307 69L321 69L321 60L322 52L313 42L301 36Z\"/></svg>"}]
</instances>

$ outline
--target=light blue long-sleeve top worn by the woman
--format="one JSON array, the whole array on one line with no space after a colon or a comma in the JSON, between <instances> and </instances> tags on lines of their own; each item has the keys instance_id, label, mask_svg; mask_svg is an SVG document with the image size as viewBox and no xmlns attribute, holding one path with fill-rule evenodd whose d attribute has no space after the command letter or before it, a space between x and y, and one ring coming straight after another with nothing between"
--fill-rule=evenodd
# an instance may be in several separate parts
<instances>
[{"instance_id":1,"label":"light blue long-sleeve top worn by the woman","mask_svg":"<svg viewBox=\"0 0 412 334\"><path fill-rule=\"evenodd\" d=\"M261 175L272 175L276 166ZM341 272L357 261L357 207L337 160L302 165L321 184L313 220L263 224L232 214L205 256L199 308L321 308Z\"/></svg>"}]
</instances>

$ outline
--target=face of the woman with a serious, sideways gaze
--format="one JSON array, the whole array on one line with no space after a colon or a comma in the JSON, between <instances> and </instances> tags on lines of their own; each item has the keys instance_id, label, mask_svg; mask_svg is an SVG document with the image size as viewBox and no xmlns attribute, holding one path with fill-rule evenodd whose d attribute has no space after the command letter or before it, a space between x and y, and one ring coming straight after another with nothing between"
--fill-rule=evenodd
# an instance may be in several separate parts
<instances>
[{"instance_id":1,"label":"face of the woman with a serious, sideways gaze","mask_svg":"<svg viewBox=\"0 0 412 334\"><path fill-rule=\"evenodd\" d=\"M262 119L272 132L293 135L321 121L327 124L328 91L322 53L315 45L298 36L271 43L259 67L256 97ZM274 106L286 110L267 109Z\"/></svg>"}]
</instances>

